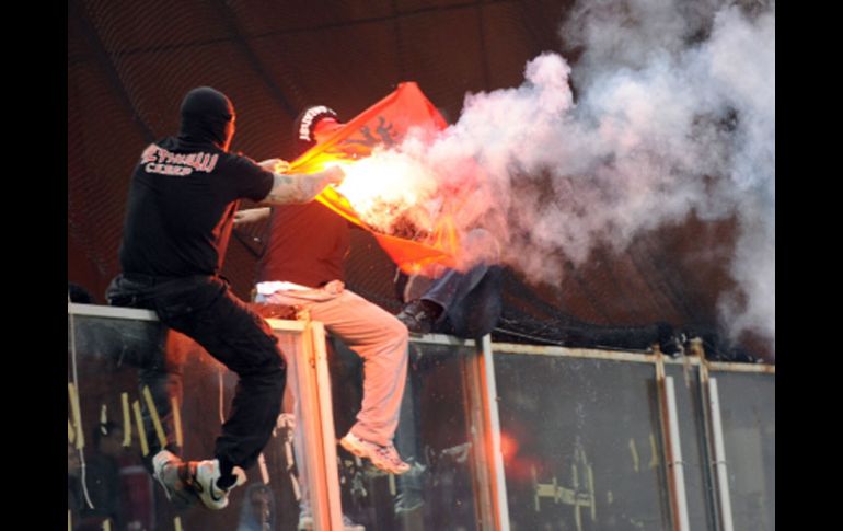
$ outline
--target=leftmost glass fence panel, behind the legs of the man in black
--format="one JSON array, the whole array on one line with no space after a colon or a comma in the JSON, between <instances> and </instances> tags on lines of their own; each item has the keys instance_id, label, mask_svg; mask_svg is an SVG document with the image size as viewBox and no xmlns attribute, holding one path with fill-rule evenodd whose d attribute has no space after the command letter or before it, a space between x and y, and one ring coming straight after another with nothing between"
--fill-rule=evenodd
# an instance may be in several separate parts
<instances>
[{"instance_id":1,"label":"leftmost glass fence panel, behind the legs of the man in black","mask_svg":"<svg viewBox=\"0 0 843 531\"><path fill-rule=\"evenodd\" d=\"M297 334L279 335L282 349L299 349ZM242 527L255 522L273 530L295 530L298 501L291 425L284 416L261 463L247 471L245 486L232 490L228 508L210 511L198 504L166 499L145 467L143 452L148 460L157 430L141 435L138 420L147 400L139 373L154 359L166 359L171 368L183 361L183 393L171 430L174 437L181 434L182 457L211 459L221 420L231 407L236 376L193 340L165 334L155 321L68 315L69 528L99 531L108 520L106 526L114 531L261 529ZM166 394L150 392L153 394L155 411L166 417Z\"/></svg>"}]
</instances>

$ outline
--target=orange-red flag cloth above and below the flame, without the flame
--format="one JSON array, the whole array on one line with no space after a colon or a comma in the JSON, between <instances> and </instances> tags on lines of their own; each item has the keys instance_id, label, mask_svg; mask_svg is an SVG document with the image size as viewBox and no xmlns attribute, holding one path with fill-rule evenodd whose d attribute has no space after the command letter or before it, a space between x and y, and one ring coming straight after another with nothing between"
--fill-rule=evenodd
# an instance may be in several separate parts
<instances>
[{"instance_id":1,"label":"orange-red flag cloth above and below the flame, without the flame","mask_svg":"<svg viewBox=\"0 0 843 531\"><path fill-rule=\"evenodd\" d=\"M411 128L434 134L448 127L444 118L414 82L399 84L386 97L346 123L324 142L314 146L290 164L291 173L313 173L336 161L355 161L371 154L376 147L390 148L400 143ZM453 266L451 253L455 250L453 231L447 221L440 223L449 232L447 238L434 234L435 243L426 245L368 227L355 212L351 204L333 187L325 188L316 200L347 220L371 232L386 254L405 273L416 273L428 264ZM447 245L443 244L447 242Z\"/></svg>"}]
</instances>

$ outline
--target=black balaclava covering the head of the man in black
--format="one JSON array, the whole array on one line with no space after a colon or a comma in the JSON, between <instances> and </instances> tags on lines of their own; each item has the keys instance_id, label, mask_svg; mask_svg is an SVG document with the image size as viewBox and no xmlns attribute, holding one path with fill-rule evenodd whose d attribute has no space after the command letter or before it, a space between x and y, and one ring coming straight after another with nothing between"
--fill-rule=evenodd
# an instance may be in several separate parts
<instances>
[{"instance_id":1,"label":"black balaclava covering the head of the man in black","mask_svg":"<svg viewBox=\"0 0 843 531\"><path fill-rule=\"evenodd\" d=\"M222 92L210 86L192 90L182 101L182 126L178 139L192 143L211 142L224 149L231 140L229 122L234 119L234 105Z\"/></svg>"}]
</instances>

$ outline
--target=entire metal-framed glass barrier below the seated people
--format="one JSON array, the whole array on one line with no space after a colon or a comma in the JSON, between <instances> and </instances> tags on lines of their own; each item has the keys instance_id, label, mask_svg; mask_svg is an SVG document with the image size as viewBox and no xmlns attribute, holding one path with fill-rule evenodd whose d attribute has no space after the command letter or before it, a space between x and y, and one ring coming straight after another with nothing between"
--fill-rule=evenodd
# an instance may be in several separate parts
<instances>
[{"instance_id":1,"label":"entire metal-framed glass barrier below the seated people","mask_svg":"<svg viewBox=\"0 0 843 531\"><path fill-rule=\"evenodd\" d=\"M360 408L361 360L317 323L270 324L307 414L286 397L246 486L210 511L171 503L145 469L160 436L142 431L152 393L138 374L149 356L183 361L172 405L185 459L211 457L236 377L150 312L68 307L69 530L296 530L309 482L314 529L343 529L343 515L369 531L775 529L774 368L414 337L395 439L412 469L394 476L336 446ZM295 426L319 469L307 477Z\"/></svg>"}]
</instances>

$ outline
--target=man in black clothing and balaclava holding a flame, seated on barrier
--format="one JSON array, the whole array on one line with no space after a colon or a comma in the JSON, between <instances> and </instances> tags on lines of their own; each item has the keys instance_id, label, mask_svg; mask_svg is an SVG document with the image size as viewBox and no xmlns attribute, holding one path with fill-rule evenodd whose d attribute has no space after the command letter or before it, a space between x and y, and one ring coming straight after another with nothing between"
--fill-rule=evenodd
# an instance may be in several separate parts
<instances>
[{"instance_id":1,"label":"man in black clothing and balaclava holding a flame, seated on barrier","mask_svg":"<svg viewBox=\"0 0 843 531\"><path fill-rule=\"evenodd\" d=\"M168 437L165 448L150 441L153 475L171 499L192 493L207 507L222 509L229 490L245 481L243 470L255 463L268 441L286 383L284 358L270 328L219 276L234 212L241 198L310 201L344 174L331 169L284 175L273 171L277 159L258 164L229 153L234 107L211 88L188 92L181 118L178 136L147 147L135 169L119 251L123 273L106 297L114 305L154 310L163 324L195 339L240 377L215 459L184 463L175 454L166 397L181 390L180 371L168 370L158 356L139 372ZM150 412L145 416L149 423Z\"/></svg>"}]
</instances>

